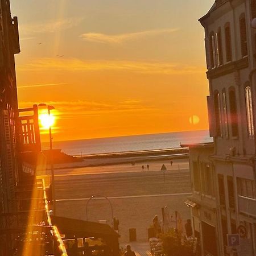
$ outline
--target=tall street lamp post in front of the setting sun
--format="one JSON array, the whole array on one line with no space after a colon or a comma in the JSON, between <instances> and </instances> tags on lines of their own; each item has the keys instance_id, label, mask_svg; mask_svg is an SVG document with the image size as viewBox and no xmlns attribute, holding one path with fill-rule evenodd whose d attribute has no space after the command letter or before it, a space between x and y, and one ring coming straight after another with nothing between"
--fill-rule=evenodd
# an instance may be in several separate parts
<instances>
[{"instance_id":1,"label":"tall street lamp post in front of the setting sun","mask_svg":"<svg viewBox=\"0 0 256 256\"><path fill-rule=\"evenodd\" d=\"M46 105L44 103L39 104L38 106L43 106L48 109L48 116L50 116L50 111L55 109L54 106ZM55 201L55 179L54 179L54 166L53 166L53 148L52 148L52 128L51 124L49 125L49 146L50 146L50 162L51 162L51 187L52 187L52 206L53 206L53 215L56 214L56 201Z\"/></svg>"}]
</instances>

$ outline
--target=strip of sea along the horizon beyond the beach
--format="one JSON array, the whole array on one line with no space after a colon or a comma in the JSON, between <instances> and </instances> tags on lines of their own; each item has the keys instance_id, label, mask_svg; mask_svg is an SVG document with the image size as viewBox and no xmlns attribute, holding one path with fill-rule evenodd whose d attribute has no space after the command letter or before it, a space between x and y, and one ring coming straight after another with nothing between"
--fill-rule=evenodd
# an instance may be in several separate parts
<instances>
[{"instance_id":1,"label":"strip of sea along the horizon beyond the beach","mask_svg":"<svg viewBox=\"0 0 256 256\"><path fill-rule=\"evenodd\" d=\"M175 133L159 133L131 135L123 137L80 139L76 141L53 141L53 148L61 149L68 155L92 155L144 150L163 150L179 148L181 144L212 142L208 130L180 131ZM48 143L42 143L48 149Z\"/></svg>"}]
</instances>

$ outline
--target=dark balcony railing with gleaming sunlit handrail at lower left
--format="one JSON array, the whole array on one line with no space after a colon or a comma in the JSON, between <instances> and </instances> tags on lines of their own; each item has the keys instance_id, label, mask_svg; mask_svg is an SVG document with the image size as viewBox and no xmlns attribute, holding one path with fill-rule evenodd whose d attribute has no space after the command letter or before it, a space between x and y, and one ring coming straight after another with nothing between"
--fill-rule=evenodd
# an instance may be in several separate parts
<instances>
[{"instance_id":1,"label":"dark balcony railing with gleaming sunlit handrail at lower left","mask_svg":"<svg viewBox=\"0 0 256 256\"><path fill-rule=\"evenodd\" d=\"M52 225L44 180L20 186L16 201L18 212L0 214L0 255L67 256Z\"/></svg>"}]
</instances>

